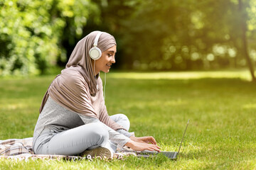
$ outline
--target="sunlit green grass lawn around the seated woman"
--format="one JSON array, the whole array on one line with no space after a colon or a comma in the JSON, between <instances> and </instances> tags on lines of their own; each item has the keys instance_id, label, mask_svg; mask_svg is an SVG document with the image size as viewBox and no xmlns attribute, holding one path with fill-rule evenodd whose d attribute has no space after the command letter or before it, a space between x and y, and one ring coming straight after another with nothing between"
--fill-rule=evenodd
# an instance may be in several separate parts
<instances>
[{"instance_id":1,"label":"sunlit green grass lawn around the seated woman","mask_svg":"<svg viewBox=\"0 0 256 170\"><path fill-rule=\"evenodd\" d=\"M104 79L104 74L101 75ZM33 135L46 89L54 76L0 79L0 139ZM137 136L152 135L166 157L65 162L0 160L0 169L256 169L256 84L249 72L107 74L110 115L126 114Z\"/></svg>"}]
</instances>

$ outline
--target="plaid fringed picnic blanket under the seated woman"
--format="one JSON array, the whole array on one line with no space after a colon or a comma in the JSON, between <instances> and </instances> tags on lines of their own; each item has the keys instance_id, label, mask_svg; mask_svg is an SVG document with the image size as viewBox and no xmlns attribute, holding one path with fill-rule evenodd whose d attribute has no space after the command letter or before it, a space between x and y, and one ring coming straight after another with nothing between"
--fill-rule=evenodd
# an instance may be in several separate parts
<instances>
[{"instance_id":1,"label":"plaid fringed picnic blanket under the seated woman","mask_svg":"<svg viewBox=\"0 0 256 170\"><path fill-rule=\"evenodd\" d=\"M87 157L79 156L67 156L67 155L57 155L57 154L34 154L33 149L33 137L28 137L24 139L9 139L0 140L0 159L18 159L26 161L28 159L65 159L65 160L82 160L88 159L92 160L90 155ZM122 159L125 155L134 155L132 152L121 151L119 153L114 153L114 159Z\"/></svg>"}]
</instances>

